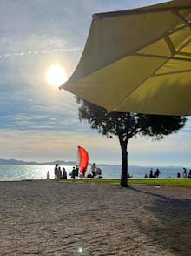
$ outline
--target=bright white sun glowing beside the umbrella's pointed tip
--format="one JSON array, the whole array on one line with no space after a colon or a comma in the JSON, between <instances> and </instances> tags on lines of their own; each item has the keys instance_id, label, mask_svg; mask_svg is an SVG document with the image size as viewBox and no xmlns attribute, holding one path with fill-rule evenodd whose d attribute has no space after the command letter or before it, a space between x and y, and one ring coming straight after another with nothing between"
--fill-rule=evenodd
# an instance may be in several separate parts
<instances>
[{"instance_id":1,"label":"bright white sun glowing beside the umbrella's pointed tip","mask_svg":"<svg viewBox=\"0 0 191 256\"><path fill-rule=\"evenodd\" d=\"M54 64L46 71L45 78L50 85L58 87L66 82L67 74L62 66Z\"/></svg>"}]
</instances>

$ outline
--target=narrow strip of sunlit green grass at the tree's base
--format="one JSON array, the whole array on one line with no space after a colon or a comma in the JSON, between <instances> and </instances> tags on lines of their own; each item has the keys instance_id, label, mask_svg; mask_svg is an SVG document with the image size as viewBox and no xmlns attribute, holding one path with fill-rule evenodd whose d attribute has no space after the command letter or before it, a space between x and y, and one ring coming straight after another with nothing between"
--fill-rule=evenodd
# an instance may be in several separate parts
<instances>
[{"instance_id":1,"label":"narrow strip of sunlit green grass at the tree's base","mask_svg":"<svg viewBox=\"0 0 191 256\"><path fill-rule=\"evenodd\" d=\"M59 180L64 182L64 180ZM120 179L68 179L67 182L95 182L95 183L110 183L120 184ZM128 179L128 184L133 185L176 185L190 186L191 179Z\"/></svg>"}]
</instances>

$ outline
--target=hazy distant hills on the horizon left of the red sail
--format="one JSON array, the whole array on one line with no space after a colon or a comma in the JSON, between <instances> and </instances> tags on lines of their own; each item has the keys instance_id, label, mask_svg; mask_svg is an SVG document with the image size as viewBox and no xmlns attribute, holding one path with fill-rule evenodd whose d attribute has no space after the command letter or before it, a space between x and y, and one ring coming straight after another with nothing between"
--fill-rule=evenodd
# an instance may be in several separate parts
<instances>
[{"instance_id":1,"label":"hazy distant hills on the horizon left of the red sail","mask_svg":"<svg viewBox=\"0 0 191 256\"><path fill-rule=\"evenodd\" d=\"M26 162L22 160L16 159L0 159L0 165L76 165L75 161L53 161L53 162L45 162L45 163L38 163L38 162Z\"/></svg>"}]
</instances>

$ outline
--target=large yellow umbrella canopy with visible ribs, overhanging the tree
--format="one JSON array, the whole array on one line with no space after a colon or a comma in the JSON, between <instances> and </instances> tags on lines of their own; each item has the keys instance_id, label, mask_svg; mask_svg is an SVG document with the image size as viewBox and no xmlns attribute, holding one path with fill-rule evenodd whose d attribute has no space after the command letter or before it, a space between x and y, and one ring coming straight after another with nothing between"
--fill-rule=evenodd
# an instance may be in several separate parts
<instances>
[{"instance_id":1,"label":"large yellow umbrella canopy with visible ribs, overhanging the tree","mask_svg":"<svg viewBox=\"0 0 191 256\"><path fill-rule=\"evenodd\" d=\"M191 115L191 1L95 14L60 89L109 111Z\"/></svg>"}]
</instances>

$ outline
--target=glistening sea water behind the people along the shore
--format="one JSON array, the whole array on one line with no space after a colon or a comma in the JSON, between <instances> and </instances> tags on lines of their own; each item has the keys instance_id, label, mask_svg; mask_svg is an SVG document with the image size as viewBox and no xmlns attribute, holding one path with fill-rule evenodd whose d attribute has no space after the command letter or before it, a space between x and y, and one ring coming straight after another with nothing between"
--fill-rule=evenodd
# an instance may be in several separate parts
<instances>
[{"instance_id":1,"label":"glistening sea water behind the people along the shore","mask_svg":"<svg viewBox=\"0 0 191 256\"><path fill-rule=\"evenodd\" d=\"M53 165L0 165L0 180L5 179L46 179L46 173L50 172L50 179L54 179ZM63 166L61 166L63 168ZM73 166L65 165L66 171L71 172ZM101 166L104 179L118 179L121 175L121 166ZM90 167L89 167L90 169ZM89 170L88 169L88 170ZM175 178L177 172L182 173L182 168L161 167L160 178ZM150 167L129 166L129 173L134 178L143 178L148 173ZM155 171L155 167L153 168ZM90 172L90 171L88 171Z\"/></svg>"}]
</instances>

